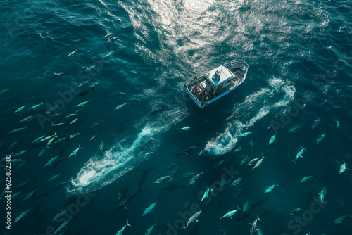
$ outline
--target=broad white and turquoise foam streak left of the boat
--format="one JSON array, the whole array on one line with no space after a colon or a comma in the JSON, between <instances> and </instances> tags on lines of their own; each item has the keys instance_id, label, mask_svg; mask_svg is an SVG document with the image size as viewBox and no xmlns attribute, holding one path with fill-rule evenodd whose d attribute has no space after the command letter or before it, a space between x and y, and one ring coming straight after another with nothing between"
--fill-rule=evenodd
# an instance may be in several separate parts
<instances>
[{"instance_id":1,"label":"broad white and turquoise foam streak left of the boat","mask_svg":"<svg viewBox=\"0 0 352 235\"><path fill-rule=\"evenodd\" d=\"M100 189L142 163L150 154L145 154L145 151L141 152L140 149L144 148L151 136L159 130L144 127L129 148L113 146L103 155L93 155L77 173L77 177L70 180L68 193L88 193Z\"/></svg>"}]
</instances>

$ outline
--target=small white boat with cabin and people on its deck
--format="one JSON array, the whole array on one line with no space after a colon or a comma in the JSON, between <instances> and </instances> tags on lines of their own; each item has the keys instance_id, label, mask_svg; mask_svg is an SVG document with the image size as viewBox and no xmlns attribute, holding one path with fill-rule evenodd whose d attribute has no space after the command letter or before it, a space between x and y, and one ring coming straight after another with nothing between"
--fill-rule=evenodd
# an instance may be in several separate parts
<instances>
[{"instance_id":1,"label":"small white boat with cabin and people on its deck","mask_svg":"<svg viewBox=\"0 0 352 235\"><path fill-rule=\"evenodd\" d=\"M199 108L204 108L239 87L246 79L248 68L244 61L225 63L200 77L195 76L184 84L184 89Z\"/></svg>"}]
</instances>

